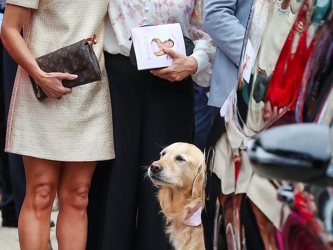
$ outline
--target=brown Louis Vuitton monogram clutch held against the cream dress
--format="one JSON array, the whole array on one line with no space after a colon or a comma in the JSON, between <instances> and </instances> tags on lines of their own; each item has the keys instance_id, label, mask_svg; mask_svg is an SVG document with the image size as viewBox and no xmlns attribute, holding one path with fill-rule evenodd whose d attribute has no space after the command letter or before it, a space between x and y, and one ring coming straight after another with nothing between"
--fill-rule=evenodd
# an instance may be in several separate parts
<instances>
[{"instance_id":1,"label":"brown Louis Vuitton monogram clutch held against the cream dress","mask_svg":"<svg viewBox=\"0 0 333 250\"><path fill-rule=\"evenodd\" d=\"M76 74L77 79L63 81L64 87L67 88L100 81L101 68L92 47L96 43L96 35L94 34L93 37L37 57L36 61L41 69L47 73L62 72ZM37 99L40 101L47 99L47 95L31 76L30 81Z\"/></svg>"}]
</instances>

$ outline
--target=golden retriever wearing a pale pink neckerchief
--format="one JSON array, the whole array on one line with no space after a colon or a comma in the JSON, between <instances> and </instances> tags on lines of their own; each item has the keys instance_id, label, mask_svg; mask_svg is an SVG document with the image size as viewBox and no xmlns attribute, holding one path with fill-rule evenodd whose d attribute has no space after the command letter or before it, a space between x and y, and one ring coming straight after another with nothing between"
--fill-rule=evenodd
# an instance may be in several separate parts
<instances>
[{"instance_id":1,"label":"golden retriever wearing a pale pink neckerchief","mask_svg":"<svg viewBox=\"0 0 333 250\"><path fill-rule=\"evenodd\" d=\"M204 250L201 211L205 202L206 164L201 150L188 143L174 143L148 168L160 188L158 199L167 231L176 250Z\"/></svg>"}]
</instances>

